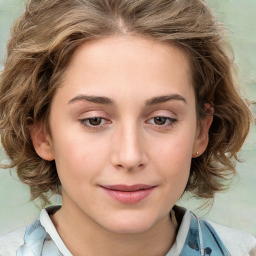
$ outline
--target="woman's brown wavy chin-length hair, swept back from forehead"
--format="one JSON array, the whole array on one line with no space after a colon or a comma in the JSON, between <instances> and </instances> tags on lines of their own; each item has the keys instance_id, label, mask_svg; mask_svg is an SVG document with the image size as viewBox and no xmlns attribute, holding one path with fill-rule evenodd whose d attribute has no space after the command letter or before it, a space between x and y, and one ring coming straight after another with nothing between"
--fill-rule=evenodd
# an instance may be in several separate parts
<instances>
[{"instance_id":1,"label":"woman's brown wavy chin-length hair, swept back from forehead","mask_svg":"<svg viewBox=\"0 0 256 256\"><path fill-rule=\"evenodd\" d=\"M209 143L192 158L185 191L212 198L235 174L252 115L236 88L226 28L204 0L29 0L11 28L0 74L0 135L31 199L60 193L55 162L40 158L29 127L47 124L50 102L74 49L114 34L175 43L189 58L198 120L214 107Z\"/></svg>"}]
</instances>

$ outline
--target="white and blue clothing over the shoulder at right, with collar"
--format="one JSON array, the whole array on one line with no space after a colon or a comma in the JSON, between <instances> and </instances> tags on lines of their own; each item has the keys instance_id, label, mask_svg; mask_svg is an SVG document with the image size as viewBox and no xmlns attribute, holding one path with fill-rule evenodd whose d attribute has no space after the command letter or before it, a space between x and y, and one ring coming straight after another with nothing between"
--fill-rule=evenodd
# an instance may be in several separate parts
<instances>
[{"instance_id":1,"label":"white and blue clothing over the shoulder at right, with collar","mask_svg":"<svg viewBox=\"0 0 256 256\"><path fill-rule=\"evenodd\" d=\"M197 255L199 250L210 255L256 256L256 239L251 234L199 219L191 211L177 205L173 210L179 223L173 244L176 254L171 248L167 255Z\"/></svg>"}]
</instances>

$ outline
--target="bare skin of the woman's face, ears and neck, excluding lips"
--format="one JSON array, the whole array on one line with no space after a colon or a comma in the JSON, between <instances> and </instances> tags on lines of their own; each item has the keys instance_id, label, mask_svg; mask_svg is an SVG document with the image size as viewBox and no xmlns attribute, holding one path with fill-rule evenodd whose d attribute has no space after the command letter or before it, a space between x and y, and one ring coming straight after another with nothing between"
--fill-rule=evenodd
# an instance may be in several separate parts
<instances>
[{"instance_id":1,"label":"bare skin of the woman's face, ears and neck, excluding lips","mask_svg":"<svg viewBox=\"0 0 256 256\"><path fill-rule=\"evenodd\" d=\"M73 255L164 255L173 244L169 210L212 119L197 126L190 77L176 46L142 37L101 38L73 53L50 133L41 124L31 134L36 152L55 159L63 202L51 219ZM115 184L153 188L122 203L102 188Z\"/></svg>"}]
</instances>

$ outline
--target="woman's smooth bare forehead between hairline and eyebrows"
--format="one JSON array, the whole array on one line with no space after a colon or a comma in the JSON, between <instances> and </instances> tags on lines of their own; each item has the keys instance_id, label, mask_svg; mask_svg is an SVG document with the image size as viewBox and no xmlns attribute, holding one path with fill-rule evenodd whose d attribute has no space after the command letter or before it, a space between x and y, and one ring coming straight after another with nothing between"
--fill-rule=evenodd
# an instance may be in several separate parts
<instances>
[{"instance_id":1,"label":"woman's smooth bare forehead between hairline and eyebrows","mask_svg":"<svg viewBox=\"0 0 256 256\"><path fill-rule=\"evenodd\" d=\"M137 94L146 99L152 94L186 96L192 90L188 59L178 46L137 36L83 43L72 54L63 78L62 89L69 95L132 99Z\"/></svg>"}]
</instances>

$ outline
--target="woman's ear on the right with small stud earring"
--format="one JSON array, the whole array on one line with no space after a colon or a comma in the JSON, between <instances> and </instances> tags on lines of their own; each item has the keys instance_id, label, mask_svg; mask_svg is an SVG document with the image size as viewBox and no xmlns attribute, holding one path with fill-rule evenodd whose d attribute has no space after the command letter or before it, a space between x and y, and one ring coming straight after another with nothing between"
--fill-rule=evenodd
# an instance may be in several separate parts
<instances>
[{"instance_id":1,"label":"woman's ear on the right with small stud earring","mask_svg":"<svg viewBox=\"0 0 256 256\"><path fill-rule=\"evenodd\" d=\"M213 119L214 108L209 103L205 103L204 111L206 112L206 116L200 120L200 125L197 127L192 157L201 155L208 145L208 131Z\"/></svg>"}]
</instances>

